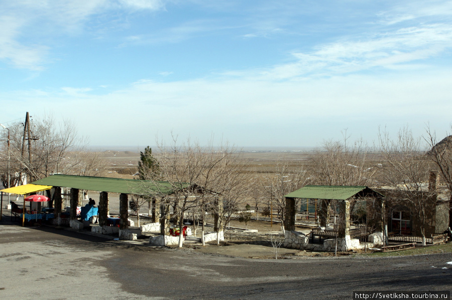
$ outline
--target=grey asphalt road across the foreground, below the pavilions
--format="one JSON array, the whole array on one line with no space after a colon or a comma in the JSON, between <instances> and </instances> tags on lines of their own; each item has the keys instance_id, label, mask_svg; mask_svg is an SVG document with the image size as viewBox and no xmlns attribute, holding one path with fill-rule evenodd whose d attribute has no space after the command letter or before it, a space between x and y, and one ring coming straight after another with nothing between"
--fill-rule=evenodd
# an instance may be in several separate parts
<instances>
[{"instance_id":1,"label":"grey asphalt road across the foreground, below the pavilions","mask_svg":"<svg viewBox=\"0 0 452 300\"><path fill-rule=\"evenodd\" d=\"M352 299L452 290L452 254L246 259L0 225L0 299Z\"/></svg>"}]
</instances>

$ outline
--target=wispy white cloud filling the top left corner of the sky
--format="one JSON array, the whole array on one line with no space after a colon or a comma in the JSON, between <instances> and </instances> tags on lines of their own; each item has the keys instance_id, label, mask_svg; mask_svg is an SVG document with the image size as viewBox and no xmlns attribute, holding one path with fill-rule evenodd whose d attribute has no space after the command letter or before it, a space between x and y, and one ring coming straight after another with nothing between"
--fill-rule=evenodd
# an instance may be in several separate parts
<instances>
[{"instance_id":1,"label":"wispy white cloud filling the top left corner of the sky","mask_svg":"<svg viewBox=\"0 0 452 300\"><path fill-rule=\"evenodd\" d=\"M0 4L0 60L16 68L43 70L57 39L78 35L90 17L110 10L160 10L164 0L15 0Z\"/></svg>"}]
</instances>

